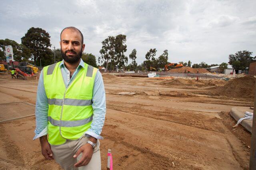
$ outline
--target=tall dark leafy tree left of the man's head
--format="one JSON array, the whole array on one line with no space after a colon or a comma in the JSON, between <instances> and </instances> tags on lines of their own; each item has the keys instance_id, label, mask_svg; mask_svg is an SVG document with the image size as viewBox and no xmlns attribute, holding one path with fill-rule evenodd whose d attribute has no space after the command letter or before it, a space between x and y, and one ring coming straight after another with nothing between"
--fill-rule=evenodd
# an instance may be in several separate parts
<instances>
[{"instance_id":1,"label":"tall dark leafy tree left of the man's head","mask_svg":"<svg viewBox=\"0 0 256 170\"><path fill-rule=\"evenodd\" d=\"M42 65L52 64L52 51L49 49L51 47L50 35L42 28L31 27L24 37L21 38L21 43L24 47L30 48L30 56L34 60L34 63L40 63L42 59Z\"/></svg>"}]
</instances>

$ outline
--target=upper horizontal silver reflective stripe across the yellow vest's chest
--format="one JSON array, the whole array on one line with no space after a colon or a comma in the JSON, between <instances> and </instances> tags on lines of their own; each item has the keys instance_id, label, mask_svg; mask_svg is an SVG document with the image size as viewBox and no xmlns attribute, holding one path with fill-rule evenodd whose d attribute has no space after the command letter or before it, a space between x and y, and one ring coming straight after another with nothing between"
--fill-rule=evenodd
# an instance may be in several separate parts
<instances>
[{"instance_id":1,"label":"upper horizontal silver reflective stripe across the yellow vest's chest","mask_svg":"<svg viewBox=\"0 0 256 170\"><path fill-rule=\"evenodd\" d=\"M62 99L48 99L48 104L62 106ZM92 105L92 100L79 100L79 99L64 99L64 105L70 106L90 106Z\"/></svg>"}]
</instances>

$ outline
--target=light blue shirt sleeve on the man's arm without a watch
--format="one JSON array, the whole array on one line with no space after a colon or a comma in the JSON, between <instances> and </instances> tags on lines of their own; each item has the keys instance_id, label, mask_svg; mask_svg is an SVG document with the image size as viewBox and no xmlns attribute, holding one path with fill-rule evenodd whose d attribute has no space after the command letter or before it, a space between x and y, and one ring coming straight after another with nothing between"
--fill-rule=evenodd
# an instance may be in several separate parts
<instances>
[{"instance_id":1,"label":"light blue shirt sleeve on the man's arm without a watch","mask_svg":"<svg viewBox=\"0 0 256 170\"><path fill-rule=\"evenodd\" d=\"M44 88L43 70L38 80L35 115L36 129L33 140L48 134L48 98Z\"/></svg>"}]
</instances>

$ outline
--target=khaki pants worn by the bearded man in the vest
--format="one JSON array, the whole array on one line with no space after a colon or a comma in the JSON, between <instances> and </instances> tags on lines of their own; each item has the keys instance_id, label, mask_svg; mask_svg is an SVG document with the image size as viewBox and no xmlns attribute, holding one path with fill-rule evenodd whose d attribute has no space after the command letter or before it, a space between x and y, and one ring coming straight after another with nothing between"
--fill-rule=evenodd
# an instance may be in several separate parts
<instances>
[{"instance_id":1,"label":"khaki pants worn by the bearded man in the vest","mask_svg":"<svg viewBox=\"0 0 256 170\"><path fill-rule=\"evenodd\" d=\"M86 144L88 140L88 137L82 137L76 141L67 140L63 145L51 145L54 160L65 170L100 170L101 161L99 140L97 140L97 146L94 148L90 162L86 166L78 168L74 167L74 164L76 164L76 162L78 162L82 157L82 153L77 158L73 158L74 154L80 147Z\"/></svg>"}]
</instances>

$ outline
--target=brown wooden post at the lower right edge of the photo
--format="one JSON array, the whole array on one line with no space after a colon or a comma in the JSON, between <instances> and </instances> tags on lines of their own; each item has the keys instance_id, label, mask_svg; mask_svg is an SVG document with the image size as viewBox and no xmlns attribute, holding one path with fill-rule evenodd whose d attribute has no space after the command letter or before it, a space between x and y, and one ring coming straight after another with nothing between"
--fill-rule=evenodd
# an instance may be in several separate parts
<instances>
[{"instance_id":1,"label":"brown wooden post at the lower right edge of the photo","mask_svg":"<svg viewBox=\"0 0 256 170\"><path fill-rule=\"evenodd\" d=\"M255 83L256 90L256 83ZM256 92L256 91L255 91ZM254 94L254 107L252 119L252 137L251 137L251 154L250 154L250 170L256 170L256 93Z\"/></svg>"}]
</instances>

